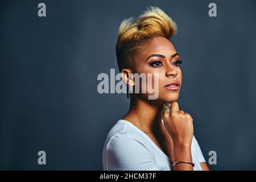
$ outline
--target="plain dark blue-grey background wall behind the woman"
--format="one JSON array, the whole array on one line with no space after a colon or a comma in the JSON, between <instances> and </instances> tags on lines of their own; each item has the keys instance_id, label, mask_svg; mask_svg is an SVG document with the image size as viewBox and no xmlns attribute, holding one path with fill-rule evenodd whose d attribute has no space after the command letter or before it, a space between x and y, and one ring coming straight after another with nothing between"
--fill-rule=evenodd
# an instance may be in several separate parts
<instances>
[{"instance_id":1,"label":"plain dark blue-grey background wall behind the woman","mask_svg":"<svg viewBox=\"0 0 256 182\"><path fill-rule=\"evenodd\" d=\"M194 119L205 159L217 152L209 168L256 169L256 1L170 0L1 1L0 169L102 169L105 137L129 100L99 94L97 75L117 69L119 23L147 6L177 23L178 102Z\"/></svg>"}]
</instances>

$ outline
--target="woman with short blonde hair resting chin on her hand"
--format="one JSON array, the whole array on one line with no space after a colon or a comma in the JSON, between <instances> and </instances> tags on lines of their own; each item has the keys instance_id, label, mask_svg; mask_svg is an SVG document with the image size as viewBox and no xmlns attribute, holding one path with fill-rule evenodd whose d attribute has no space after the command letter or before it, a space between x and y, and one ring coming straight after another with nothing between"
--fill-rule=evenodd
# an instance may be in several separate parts
<instances>
[{"instance_id":1,"label":"woman with short blonde hair resting chin on her hand","mask_svg":"<svg viewBox=\"0 0 256 182\"><path fill-rule=\"evenodd\" d=\"M134 91L128 113L109 131L102 154L104 170L208 170L193 136L191 115L179 110L182 61L170 42L175 22L158 7L150 7L137 19L123 20L118 31L116 55L123 81ZM150 84L135 81L133 73L157 75ZM171 102L171 104L169 103Z\"/></svg>"}]
</instances>

